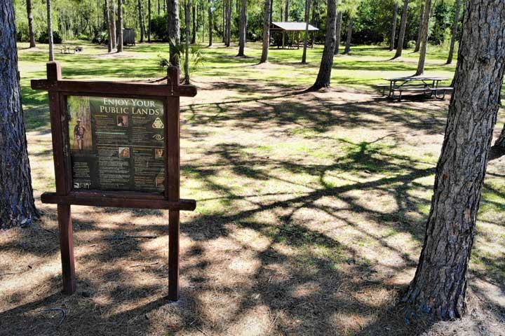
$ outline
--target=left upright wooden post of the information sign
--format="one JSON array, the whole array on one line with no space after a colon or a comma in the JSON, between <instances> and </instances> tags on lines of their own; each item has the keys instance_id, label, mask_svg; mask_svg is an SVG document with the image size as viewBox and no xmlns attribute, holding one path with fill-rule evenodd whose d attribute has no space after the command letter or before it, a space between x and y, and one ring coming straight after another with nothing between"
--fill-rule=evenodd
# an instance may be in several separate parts
<instances>
[{"instance_id":1,"label":"left upright wooden post of the information sign","mask_svg":"<svg viewBox=\"0 0 505 336\"><path fill-rule=\"evenodd\" d=\"M48 62L47 78L51 83L62 79L61 66L58 62ZM49 113L51 134L53 135L53 157L55 162L56 193L67 195L70 192L70 176L68 165L68 146L65 135L67 116L65 113L65 99L60 92L49 90ZM67 149L65 149L67 148ZM73 294L76 290L74 241L72 230L72 217L69 204L58 204L58 228L60 230L60 251L62 260L63 293Z\"/></svg>"}]
</instances>

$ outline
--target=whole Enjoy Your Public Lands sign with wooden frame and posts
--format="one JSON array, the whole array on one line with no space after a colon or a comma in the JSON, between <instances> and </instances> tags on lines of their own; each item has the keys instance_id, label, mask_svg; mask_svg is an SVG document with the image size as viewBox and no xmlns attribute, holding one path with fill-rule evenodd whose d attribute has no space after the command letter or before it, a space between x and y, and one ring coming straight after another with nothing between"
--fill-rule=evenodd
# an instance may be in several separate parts
<instances>
[{"instance_id":1,"label":"whole Enjoy Your Public Lands sign with wooden frame and posts","mask_svg":"<svg viewBox=\"0 0 505 336\"><path fill-rule=\"evenodd\" d=\"M58 62L48 62L47 90L53 136L63 292L76 290L70 206L168 209L168 298L179 298L179 221L194 200L180 199L179 97L196 87L179 85L179 69L168 83L62 80Z\"/></svg>"}]
</instances>

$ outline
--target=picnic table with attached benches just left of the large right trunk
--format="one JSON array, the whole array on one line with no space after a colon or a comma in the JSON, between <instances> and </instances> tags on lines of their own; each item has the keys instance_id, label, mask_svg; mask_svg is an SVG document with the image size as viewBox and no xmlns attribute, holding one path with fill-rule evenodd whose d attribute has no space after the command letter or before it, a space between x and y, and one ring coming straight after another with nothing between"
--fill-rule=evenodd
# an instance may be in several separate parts
<instances>
[{"instance_id":1,"label":"picnic table with attached benches just left of the large right trunk","mask_svg":"<svg viewBox=\"0 0 505 336\"><path fill-rule=\"evenodd\" d=\"M382 94L389 89L388 97L392 99L402 99L403 92L417 92L437 99L444 99L447 92L452 91L450 86L439 86L439 83L450 78L441 76L409 76L398 78L384 78L389 84L377 85L382 89ZM396 94L398 92L398 94Z\"/></svg>"}]
</instances>

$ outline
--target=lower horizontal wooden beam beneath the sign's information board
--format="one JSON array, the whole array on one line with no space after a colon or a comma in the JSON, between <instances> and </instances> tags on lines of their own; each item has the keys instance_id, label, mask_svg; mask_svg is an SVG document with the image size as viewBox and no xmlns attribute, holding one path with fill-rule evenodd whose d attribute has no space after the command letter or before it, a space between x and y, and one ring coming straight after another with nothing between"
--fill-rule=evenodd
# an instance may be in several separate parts
<instances>
[{"instance_id":1,"label":"lower horizontal wooden beam beneath the sign's information board","mask_svg":"<svg viewBox=\"0 0 505 336\"><path fill-rule=\"evenodd\" d=\"M89 205L93 207L119 207L141 209L188 210L196 208L195 200L168 201L161 194L135 192L72 191L68 195L43 193L42 203Z\"/></svg>"}]
</instances>

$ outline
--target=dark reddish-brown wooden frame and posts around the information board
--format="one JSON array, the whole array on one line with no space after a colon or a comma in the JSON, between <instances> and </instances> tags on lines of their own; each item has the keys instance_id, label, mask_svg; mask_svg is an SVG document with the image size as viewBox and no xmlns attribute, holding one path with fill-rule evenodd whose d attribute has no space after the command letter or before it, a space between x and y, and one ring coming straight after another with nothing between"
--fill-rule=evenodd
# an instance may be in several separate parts
<instances>
[{"instance_id":1,"label":"dark reddish-brown wooden frame and posts around the information board","mask_svg":"<svg viewBox=\"0 0 505 336\"><path fill-rule=\"evenodd\" d=\"M49 96L55 193L43 193L41 201L57 204L63 293L76 291L71 205L168 209L168 299L179 299L180 211L193 211L195 200L180 198L180 97L194 97L194 85L180 85L177 66L168 67L166 84L63 80L58 62L48 62L47 79L32 80L33 90L46 90ZM139 191L74 190L69 144L67 96L156 99L163 102L165 149L165 189L163 193Z\"/></svg>"}]
</instances>

